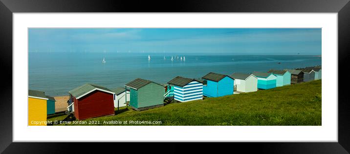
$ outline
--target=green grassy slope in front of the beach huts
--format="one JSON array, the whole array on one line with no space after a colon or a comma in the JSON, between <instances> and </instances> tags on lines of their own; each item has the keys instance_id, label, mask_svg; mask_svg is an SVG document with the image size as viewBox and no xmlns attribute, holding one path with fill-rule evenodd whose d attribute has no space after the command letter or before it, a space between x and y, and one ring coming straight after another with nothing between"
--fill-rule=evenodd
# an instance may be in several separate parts
<instances>
[{"instance_id":1,"label":"green grassy slope in front of the beach huts","mask_svg":"<svg viewBox=\"0 0 350 154\"><path fill-rule=\"evenodd\" d=\"M58 116L48 120L62 120ZM99 124L88 124L89 121ZM124 108L115 116L91 118L87 124L109 125L104 121L161 121L141 125L307 125L319 126L321 121L321 80L277 87L258 92L235 94L204 100L171 103L164 107L133 111ZM113 125L113 124L112 124ZM140 125L140 124L114 124Z\"/></svg>"}]
</instances>

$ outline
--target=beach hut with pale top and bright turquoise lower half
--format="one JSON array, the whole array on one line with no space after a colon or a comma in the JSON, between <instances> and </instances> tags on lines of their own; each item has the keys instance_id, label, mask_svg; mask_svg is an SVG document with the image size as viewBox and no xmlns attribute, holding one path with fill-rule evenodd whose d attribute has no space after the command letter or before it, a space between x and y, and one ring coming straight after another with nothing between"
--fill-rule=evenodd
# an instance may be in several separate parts
<instances>
[{"instance_id":1,"label":"beach hut with pale top and bright turquoise lower half","mask_svg":"<svg viewBox=\"0 0 350 154\"><path fill-rule=\"evenodd\" d=\"M276 88L277 77L272 73L253 72L253 75L258 78L258 89Z\"/></svg>"}]
</instances>

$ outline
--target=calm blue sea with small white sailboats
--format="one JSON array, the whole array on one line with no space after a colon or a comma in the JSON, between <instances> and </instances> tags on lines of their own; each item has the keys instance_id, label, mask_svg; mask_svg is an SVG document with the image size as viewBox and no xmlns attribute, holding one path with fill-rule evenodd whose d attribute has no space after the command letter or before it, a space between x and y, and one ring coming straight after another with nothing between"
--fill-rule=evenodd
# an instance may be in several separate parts
<instances>
[{"instance_id":1,"label":"calm blue sea with small white sailboats","mask_svg":"<svg viewBox=\"0 0 350 154\"><path fill-rule=\"evenodd\" d=\"M135 78L166 84L177 76L200 78L209 72L231 75L321 64L322 58L313 55L29 52L28 86L48 96L66 96L85 83L114 89Z\"/></svg>"}]
</instances>

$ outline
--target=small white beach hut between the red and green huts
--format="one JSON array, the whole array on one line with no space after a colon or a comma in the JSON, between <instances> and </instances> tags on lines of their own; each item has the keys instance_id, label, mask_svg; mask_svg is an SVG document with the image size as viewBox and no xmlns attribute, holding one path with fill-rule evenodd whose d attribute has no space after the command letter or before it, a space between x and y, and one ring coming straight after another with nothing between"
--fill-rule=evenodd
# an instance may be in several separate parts
<instances>
[{"instance_id":1,"label":"small white beach hut between the red and green huts","mask_svg":"<svg viewBox=\"0 0 350 154\"><path fill-rule=\"evenodd\" d=\"M116 89L112 89L112 92L114 92L113 100L114 100L114 107L123 107L127 105L127 102L130 101L130 91L125 90L123 87L118 87Z\"/></svg>"}]
</instances>

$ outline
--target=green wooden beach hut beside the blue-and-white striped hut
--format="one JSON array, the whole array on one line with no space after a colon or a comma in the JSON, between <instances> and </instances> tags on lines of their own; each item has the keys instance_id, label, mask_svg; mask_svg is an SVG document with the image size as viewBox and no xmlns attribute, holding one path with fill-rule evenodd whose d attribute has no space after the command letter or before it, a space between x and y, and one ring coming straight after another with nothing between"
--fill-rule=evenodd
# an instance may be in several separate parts
<instances>
[{"instance_id":1,"label":"green wooden beach hut beside the blue-and-white striped hut","mask_svg":"<svg viewBox=\"0 0 350 154\"><path fill-rule=\"evenodd\" d=\"M136 111L164 106L164 86L150 80L136 78L125 84L130 90L130 106Z\"/></svg>"}]
</instances>

